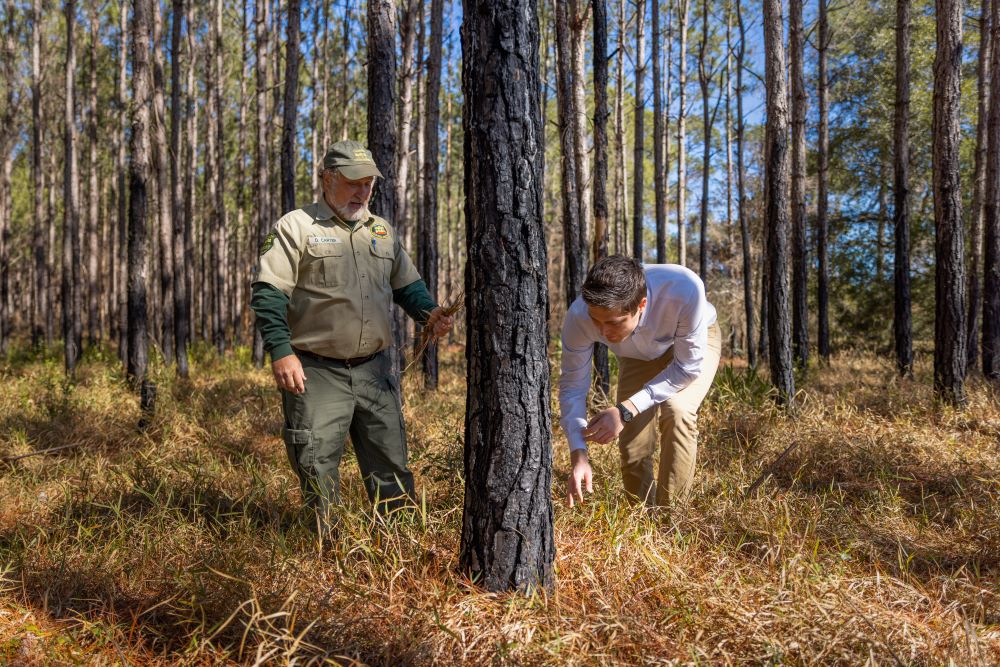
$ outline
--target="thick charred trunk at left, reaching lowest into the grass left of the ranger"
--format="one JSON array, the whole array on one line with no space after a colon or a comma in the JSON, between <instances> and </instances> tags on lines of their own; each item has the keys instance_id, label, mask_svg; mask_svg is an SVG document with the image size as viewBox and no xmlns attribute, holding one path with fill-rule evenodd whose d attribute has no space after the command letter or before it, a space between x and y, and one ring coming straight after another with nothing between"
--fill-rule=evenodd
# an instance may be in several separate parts
<instances>
[{"instance_id":1,"label":"thick charred trunk at left, reaching lowest into the grass left of the ranger","mask_svg":"<svg viewBox=\"0 0 1000 667\"><path fill-rule=\"evenodd\" d=\"M146 213L150 153L150 0L134 0L132 17L132 137L129 142L128 365L129 379L146 381Z\"/></svg>"}]
</instances>

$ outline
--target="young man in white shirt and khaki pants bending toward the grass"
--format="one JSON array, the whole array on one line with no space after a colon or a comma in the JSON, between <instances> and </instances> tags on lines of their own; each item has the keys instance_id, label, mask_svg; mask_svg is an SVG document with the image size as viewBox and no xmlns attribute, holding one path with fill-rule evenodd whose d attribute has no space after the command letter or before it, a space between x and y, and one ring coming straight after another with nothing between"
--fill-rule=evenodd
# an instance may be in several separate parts
<instances>
[{"instance_id":1,"label":"young man in white shirt and khaki pants bending toward the grass","mask_svg":"<svg viewBox=\"0 0 1000 667\"><path fill-rule=\"evenodd\" d=\"M588 421L594 343L618 357L618 404ZM622 481L633 499L666 505L688 493L698 408L721 350L715 307L693 271L676 264L643 266L622 255L594 264L562 328L559 407L573 466L566 483L570 507L593 491L587 440L606 444L619 437ZM659 485L653 479L657 415Z\"/></svg>"}]
</instances>

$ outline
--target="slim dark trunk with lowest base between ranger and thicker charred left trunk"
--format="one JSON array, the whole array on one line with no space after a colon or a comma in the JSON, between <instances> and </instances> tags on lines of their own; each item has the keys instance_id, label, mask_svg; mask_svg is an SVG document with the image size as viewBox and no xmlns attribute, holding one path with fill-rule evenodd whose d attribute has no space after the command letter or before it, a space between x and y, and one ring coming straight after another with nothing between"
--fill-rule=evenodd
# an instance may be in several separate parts
<instances>
[{"instance_id":1,"label":"slim dark trunk with lowest base between ranger and thicker charred left trunk","mask_svg":"<svg viewBox=\"0 0 1000 667\"><path fill-rule=\"evenodd\" d=\"M184 216L181 202L181 23L184 0L173 0L170 31L170 217L173 221L174 357L177 375L188 376L187 285L184 282ZM191 26L188 25L188 30ZM240 152L242 155L242 151ZM241 170L242 171L242 170Z\"/></svg>"}]
</instances>

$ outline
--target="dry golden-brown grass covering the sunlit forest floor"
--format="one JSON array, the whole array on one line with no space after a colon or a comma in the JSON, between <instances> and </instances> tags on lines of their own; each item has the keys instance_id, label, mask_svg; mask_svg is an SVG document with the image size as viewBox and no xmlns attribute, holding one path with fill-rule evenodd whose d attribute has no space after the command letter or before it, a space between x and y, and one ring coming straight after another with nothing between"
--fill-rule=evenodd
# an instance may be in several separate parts
<instances>
[{"instance_id":1,"label":"dry golden-brown grass covering the sunlit forest floor","mask_svg":"<svg viewBox=\"0 0 1000 667\"><path fill-rule=\"evenodd\" d=\"M110 355L69 392L59 359L0 367L0 662L1000 664L1000 406L981 381L956 412L926 355L903 381L842 354L790 419L722 369L694 495L669 516L623 501L614 446L567 509L557 431L558 583L524 598L456 570L465 380L461 349L444 356L440 391L404 388L421 511L373 520L349 456L326 548L245 356L156 371L143 433Z\"/></svg>"}]
</instances>

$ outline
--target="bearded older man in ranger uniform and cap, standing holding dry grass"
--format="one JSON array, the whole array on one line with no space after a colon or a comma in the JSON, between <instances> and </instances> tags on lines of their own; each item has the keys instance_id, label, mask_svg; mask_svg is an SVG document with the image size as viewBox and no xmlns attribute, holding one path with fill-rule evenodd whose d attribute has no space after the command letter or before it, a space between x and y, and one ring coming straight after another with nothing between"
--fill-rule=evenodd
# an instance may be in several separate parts
<instances>
[{"instance_id":1,"label":"bearded older man in ranger uniform and cap, standing holding dry grass","mask_svg":"<svg viewBox=\"0 0 1000 667\"><path fill-rule=\"evenodd\" d=\"M288 459L321 526L338 502L348 435L378 509L413 497L386 353L392 303L434 336L452 325L395 230L368 210L381 175L362 144L334 144L323 160L323 197L278 220L253 279L251 306L281 390Z\"/></svg>"}]
</instances>

